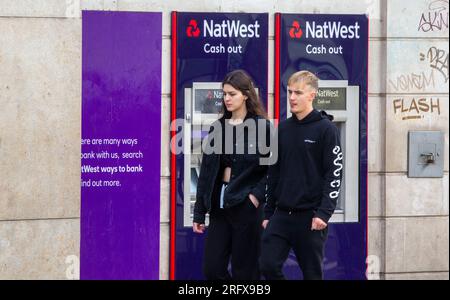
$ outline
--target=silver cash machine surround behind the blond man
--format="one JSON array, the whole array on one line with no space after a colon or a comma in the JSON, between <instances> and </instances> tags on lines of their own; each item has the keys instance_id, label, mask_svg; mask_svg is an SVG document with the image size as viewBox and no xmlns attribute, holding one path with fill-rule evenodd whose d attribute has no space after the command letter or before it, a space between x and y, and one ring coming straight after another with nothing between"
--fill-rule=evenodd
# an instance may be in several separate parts
<instances>
[{"instance_id":1,"label":"silver cash machine surround behind the blond man","mask_svg":"<svg viewBox=\"0 0 450 300\"><path fill-rule=\"evenodd\" d=\"M333 109L319 108L334 116L333 122L340 130L344 154L341 191L338 206L330 222L359 221L359 86L349 86L347 80L319 80L319 90L335 88L345 91L345 101L339 105L330 103ZM326 106L327 104L324 104ZM286 97L287 116L289 98ZM348 180L351 178L351 180Z\"/></svg>"}]
</instances>

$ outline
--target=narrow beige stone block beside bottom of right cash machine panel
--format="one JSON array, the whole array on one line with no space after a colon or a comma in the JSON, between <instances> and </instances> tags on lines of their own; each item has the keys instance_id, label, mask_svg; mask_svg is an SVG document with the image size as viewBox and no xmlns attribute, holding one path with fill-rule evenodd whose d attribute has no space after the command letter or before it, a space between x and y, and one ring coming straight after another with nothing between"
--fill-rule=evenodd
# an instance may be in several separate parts
<instances>
[{"instance_id":1,"label":"narrow beige stone block beside bottom of right cash machine panel","mask_svg":"<svg viewBox=\"0 0 450 300\"><path fill-rule=\"evenodd\" d=\"M368 257L368 273L380 274L384 272L384 236L385 236L385 221L382 219L369 218L369 257ZM374 279L374 278L371 278Z\"/></svg>"}]
</instances>

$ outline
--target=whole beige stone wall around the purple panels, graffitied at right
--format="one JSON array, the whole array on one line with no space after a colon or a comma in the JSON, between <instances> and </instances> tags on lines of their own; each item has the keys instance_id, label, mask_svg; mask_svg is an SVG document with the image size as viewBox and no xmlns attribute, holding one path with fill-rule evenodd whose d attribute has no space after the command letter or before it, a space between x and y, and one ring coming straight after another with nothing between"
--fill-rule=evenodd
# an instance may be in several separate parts
<instances>
[{"instance_id":1,"label":"whole beige stone wall around the purple panels, graffitied at right","mask_svg":"<svg viewBox=\"0 0 450 300\"><path fill-rule=\"evenodd\" d=\"M430 48L448 55L448 17L440 29L419 27L436 3L445 1L0 0L0 279L79 278L82 9L163 12L162 279L169 268L172 10L269 13L269 115L274 13L369 14L370 277L448 279L448 60L447 80L427 60ZM422 72L434 73L432 84L401 82ZM402 120L393 101L413 97L439 97L440 113ZM407 132L416 129L445 132L444 178L406 176Z\"/></svg>"}]
</instances>

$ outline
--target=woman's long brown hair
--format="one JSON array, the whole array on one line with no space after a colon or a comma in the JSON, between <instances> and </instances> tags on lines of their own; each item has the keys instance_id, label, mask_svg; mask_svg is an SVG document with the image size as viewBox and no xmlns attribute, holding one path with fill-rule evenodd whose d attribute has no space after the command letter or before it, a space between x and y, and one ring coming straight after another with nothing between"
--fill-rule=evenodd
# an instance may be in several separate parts
<instances>
[{"instance_id":1,"label":"woman's long brown hair","mask_svg":"<svg viewBox=\"0 0 450 300\"><path fill-rule=\"evenodd\" d=\"M241 91L241 93L247 96L245 100L245 106L247 107L247 113L255 116L261 116L267 119L267 113L259 100L258 94L256 93L253 80L250 75L244 70L234 70L228 73L222 81L222 88L225 84L231 85L236 90ZM222 99L222 107L220 109L222 113L222 118L230 119L231 112L226 109L225 102Z\"/></svg>"}]
</instances>

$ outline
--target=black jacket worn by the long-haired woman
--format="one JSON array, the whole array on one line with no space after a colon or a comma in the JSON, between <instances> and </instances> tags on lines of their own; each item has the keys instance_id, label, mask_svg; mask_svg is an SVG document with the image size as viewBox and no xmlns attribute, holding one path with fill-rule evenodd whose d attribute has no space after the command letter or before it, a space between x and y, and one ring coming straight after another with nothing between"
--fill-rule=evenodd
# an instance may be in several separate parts
<instances>
[{"instance_id":1,"label":"black jacket worn by the long-haired woman","mask_svg":"<svg viewBox=\"0 0 450 300\"><path fill-rule=\"evenodd\" d=\"M268 165L261 164L260 158L267 158L269 152L268 149L263 149L261 146L265 142L264 144L269 147L273 128L271 129L271 123L262 117L247 114L244 123L248 119L253 119L256 126L254 128L244 126L246 128L245 134L241 137L236 137L236 144L233 147L230 181L224 191L224 208L233 207L242 201L248 200L247 197L250 193L258 199L260 205L263 205L266 199ZM217 127L218 124L220 124L220 127ZM265 128L261 128L262 125ZM216 128L221 130L216 130ZM220 153L224 153L225 147L230 147L230 145L223 145L224 132L225 120L219 119L212 124L207 138L207 143L213 147L217 141L222 141L222 152L217 151ZM259 135L258 132L260 132ZM265 141L261 138L263 133L265 134ZM234 154L236 149L244 149L244 154ZM196 223L203 224L206 213L211 211L212 202L219 201L223 175L219 174L221 170L220 153L203 153L202 155L202 165L194 206L194 222Z\"/></svg>"}]
</instances>

